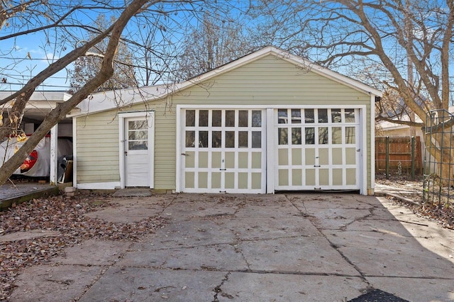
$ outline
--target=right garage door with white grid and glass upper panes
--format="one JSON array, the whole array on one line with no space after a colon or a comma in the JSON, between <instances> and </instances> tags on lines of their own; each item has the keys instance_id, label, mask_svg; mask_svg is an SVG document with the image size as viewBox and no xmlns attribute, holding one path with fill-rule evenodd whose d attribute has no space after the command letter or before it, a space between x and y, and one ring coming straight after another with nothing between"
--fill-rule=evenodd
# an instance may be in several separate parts
<instances>
[{"instance_id":1,"label":"right garage door with white grid and glass upper panes","mask_svg":"<svg viewBox=\"0 0 454 302\"><path fill-rule=\"evenodd\" d=\"M277 190L360 189L359 109L275 110Z\"/></svg>"}]
</instances>

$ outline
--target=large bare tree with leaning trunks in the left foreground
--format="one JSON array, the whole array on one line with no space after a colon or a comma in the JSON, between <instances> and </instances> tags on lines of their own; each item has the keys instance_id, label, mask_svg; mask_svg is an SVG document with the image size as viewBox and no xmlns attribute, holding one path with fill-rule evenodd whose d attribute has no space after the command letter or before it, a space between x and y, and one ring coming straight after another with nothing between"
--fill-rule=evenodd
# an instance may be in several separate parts
<instances>
[{"instance_id":1,"label":"large bare tree with leaning trunks in the left foreground","mask_svg":"<svg viewBox=\"0 0 454 302\"><path fill-rule=\"evenodd\" d=\"M53 109L18 152L1 166L0 184L10 177L40 139L58 121L65 118L72 108L111 78L114 74L114 58L119 43L129 43L135 47L149 47L150 53L159 56L160 62L162 62L162 65L154 70L156 77L160 77L160 74L164 73L167 68L167 60L172 58L172 54L161 52L165 49L165 46L162 45L168 41L172 41L173 44L177 43L176 41L181 39L185 33L187 24L194 22L199 13L211 6L211 2L201 0L132 0L125 4L118 1L86 0L70 0L60 4L40 0L3 1L2 4L8 4L8 7L2 6L2 11L0 11L1 24L3 24L0 31L0 43L2 44L0 51L2 54L11 56L11 64L0 67L3 77L9 79L9 74L15 72L21 60L31 57L30 54L25 59L14 57L16 52L14 41L24 35L42 34L45 37L43 47L51 48L55 57L59 58L40 70L38 74L34 74L31 79L23 83L21 89L0 100L1 113L6 112L7 114L0 126L0 138L17 134L26 104L40 84L57 72L68 68L103 40L107 42L98 72L92 78L87 79L87 82L77 91L74 91L70 99ZM11 7L16 9L10 9ZM223 7L226 8L226 4ZM93 21L96 20L99 13L105 12L109 12L109 15L116 18L109 26L100 31L99 28L93 26ZM130 22L131 19L133 22ZM154 45L140 45L140 41L130 35L136 33L137 30L148 28L159 28L161 35L155 37L155 45L161 45L160 49L151 49L150 47ZM81 37L86 37L89 32L95 33L91 40L79 43ZM11 48L6 50L4 45L10 45Z\"/></svg>"}]
</instances>

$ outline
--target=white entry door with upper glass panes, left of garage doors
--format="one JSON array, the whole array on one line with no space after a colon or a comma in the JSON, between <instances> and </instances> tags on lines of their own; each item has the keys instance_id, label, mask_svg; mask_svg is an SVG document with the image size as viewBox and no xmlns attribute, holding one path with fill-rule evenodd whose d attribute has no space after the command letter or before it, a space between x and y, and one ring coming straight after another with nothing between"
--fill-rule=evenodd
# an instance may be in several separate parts
<instances>
[{"instance_id":1,"label":"white entry door with upper glass panes, left of garage doors","mask_svg":"<svg viewBox=\"0 0 454 302\"><path fill-rule=\"evenodd\" d=\"M153 162L152 121L150 116L124 119L124 184L150 186Z\"/></svg>"}]
</instances>

